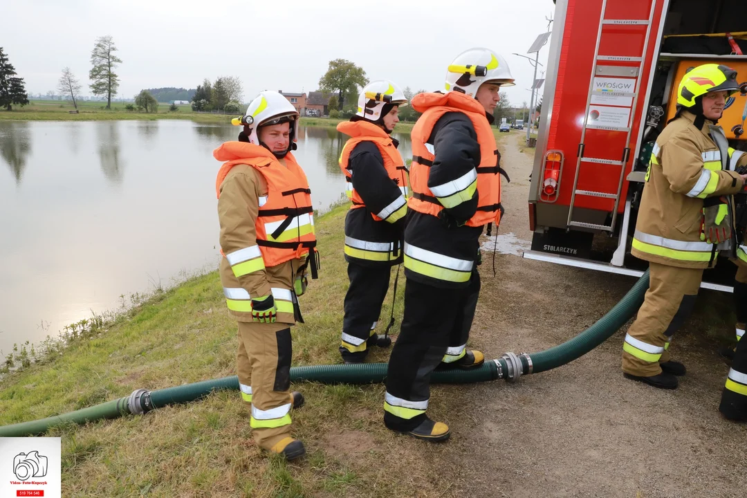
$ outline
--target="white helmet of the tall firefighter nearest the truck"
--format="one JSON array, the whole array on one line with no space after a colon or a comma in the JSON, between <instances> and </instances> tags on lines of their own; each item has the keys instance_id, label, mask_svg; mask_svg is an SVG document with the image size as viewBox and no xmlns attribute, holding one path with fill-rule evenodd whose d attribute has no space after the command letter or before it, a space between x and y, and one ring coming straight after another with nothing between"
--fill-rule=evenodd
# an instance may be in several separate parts
<instances>
[{"instance_id":1,"label":"white helmet of the tall firefighter nearest the truck","mask_svg":"<svg viewBox=\"0 0 747 498\"><path fill-rule=\"evenodd\" d=\"M512 87L514 78L506 60L490 49L469 49L457 55L446 73L446 91L474 97L480 85L495 82Z\"/></svg>"}]
</instances>

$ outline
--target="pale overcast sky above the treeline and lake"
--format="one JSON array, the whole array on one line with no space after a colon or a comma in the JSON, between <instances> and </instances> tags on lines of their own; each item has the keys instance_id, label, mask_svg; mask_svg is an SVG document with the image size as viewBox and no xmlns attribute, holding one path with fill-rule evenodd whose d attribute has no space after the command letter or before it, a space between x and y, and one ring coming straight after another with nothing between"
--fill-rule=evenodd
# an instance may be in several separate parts
<instances>
[{"instance_id":1,"label":"pale overcast sky above the treeline and lake","mask_svg":"<svg viewBox=\"0 0 747 498\"><path fill-rule=\"evenodd\" d=\"M446 67L465 49L503 55L529 102L526 55L547 31L552 0L7 0L0 46L29 93L57 87L69 66L84 84L96 37L110 34L123 60L120 96L143 88L194 88L203 78L236 75L244 101L265 89L317 90L329 60L345 58L368 78L412 90L441 90ZM16 19L10 21L10 19ZM549 44L548 44L549 46ZM548 46L540 52L545 63ZM543 69L540 67L540 69ZM539 73L538 73L539 77Z\"/></svg>"}]
</instances>

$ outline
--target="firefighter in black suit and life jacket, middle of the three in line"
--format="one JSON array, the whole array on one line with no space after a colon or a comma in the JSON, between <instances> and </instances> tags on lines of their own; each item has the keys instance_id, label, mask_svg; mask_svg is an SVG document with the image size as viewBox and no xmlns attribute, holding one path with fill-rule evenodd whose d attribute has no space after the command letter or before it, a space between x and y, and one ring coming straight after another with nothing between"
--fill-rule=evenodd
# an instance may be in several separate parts
<instances>
[{"instance_id":1,"label":"firefighter in black suit and life jacket, middle of the three in line","mask_svg":"<svg viewBox=\"0 0 747 498\"><path fill-rule=\"evenodd\" d=\"M402 262L407 213L407 173L399 142L390 137L407 105L391 81L373 81L358 99L358 112L337 125L350 136L340 156L352 202L345 217L345 260L350 287L345 295L340 354L346 364L362 363L368 346L387 347L374 329L389 288L389 269ZM395 283L396 286L396 283ZM388 332L388 327L387 327Z\"/></svg>"}]
</instances>

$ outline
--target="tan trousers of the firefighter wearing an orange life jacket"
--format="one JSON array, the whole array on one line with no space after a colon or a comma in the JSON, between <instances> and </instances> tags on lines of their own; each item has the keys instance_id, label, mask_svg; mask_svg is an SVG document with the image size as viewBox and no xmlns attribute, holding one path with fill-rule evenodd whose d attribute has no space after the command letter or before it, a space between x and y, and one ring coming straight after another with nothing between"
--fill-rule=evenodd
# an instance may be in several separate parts
<instances>
[{"instance_id":1,"label":"tan trousers of the firefighter wearing an orange life jacket","mask_svg":"<svg viewBox=\"0 0 747 498\"><path fill-rule=\"evenodd\" d=\"M270 449L291 435L291 328L288 323L238 323L238 382L251 410L252 435Z\"/></svg>"}]
</instances>

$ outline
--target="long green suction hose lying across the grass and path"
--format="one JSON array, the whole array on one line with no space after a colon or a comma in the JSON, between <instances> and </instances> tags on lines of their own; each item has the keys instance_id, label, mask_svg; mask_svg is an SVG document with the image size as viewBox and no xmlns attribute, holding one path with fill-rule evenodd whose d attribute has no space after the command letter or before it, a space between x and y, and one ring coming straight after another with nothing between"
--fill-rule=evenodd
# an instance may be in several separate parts
<instances>
[{"instance_id":1,"label":"long green suction hose lying across the grass and path","mask_svg":"<svg viewBox=\"0 0 747 498\"><path fill-rule=\"evenodd\" d=\"M474 370L436 371L433 373L432 382L436 384L466 384L495 379L515 381L522 375L544 372L570 363L603 343L617 332L627 320L630 320L640 308L646 289L648 289L648 271L620 302L604 317L601 317L597 323L571 340L560 344L560 346L531 355L526 353L515 355L508 352L501 358L486 361L482 367ZM386 370L387 364L385 363L292 367L291 381L321 382L323 384L371 384L383 382L386 378ZM90 408L82 408L42 420L0 427L0 438L42 434L52 426L67 422L86 423L99 419L121 417L126 414L144 414L154 408L191 402L214 391L238 390L238 388L238 377L231 376L153 391L138 389L130 396L114 399Z\"/></svg>"}]
</instances>

